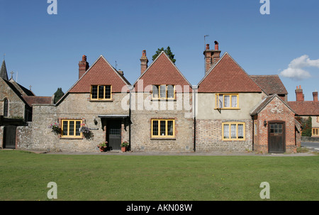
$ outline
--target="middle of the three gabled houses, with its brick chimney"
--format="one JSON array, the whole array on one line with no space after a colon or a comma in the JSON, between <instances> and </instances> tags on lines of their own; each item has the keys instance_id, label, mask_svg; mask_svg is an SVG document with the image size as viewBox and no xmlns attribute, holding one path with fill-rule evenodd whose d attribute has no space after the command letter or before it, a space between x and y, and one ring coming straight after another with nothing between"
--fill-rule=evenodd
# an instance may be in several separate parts
<instances>
[{"instance_id":1,"label":"middle of the three gabled houses, with its brick chimney","mask_svg":"<svg viewBox=\"0 0 319 215\"><path fill-rule=\"evenodd\" d=\"M131 92L131 150L193 151L191 84L164 52L148 67L143 50L140 62Z\"/></svg>"}]
</instances>

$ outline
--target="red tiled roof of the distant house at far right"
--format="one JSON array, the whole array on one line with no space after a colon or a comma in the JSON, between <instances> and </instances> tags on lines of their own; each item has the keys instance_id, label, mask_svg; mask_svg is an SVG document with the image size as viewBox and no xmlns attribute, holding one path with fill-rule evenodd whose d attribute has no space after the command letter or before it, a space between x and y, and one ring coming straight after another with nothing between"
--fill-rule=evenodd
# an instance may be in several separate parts
<instances>
[{"instance_id":1,"label":"red tiled roof of the distant house at far right","mask_svg":"<svg viewBox=\"0 0 319 215\"><path fill-rule=\"evenodd\" d=\"M319 116L319 101L288 101L299 116Z\"/></svg>"}]
</instances>

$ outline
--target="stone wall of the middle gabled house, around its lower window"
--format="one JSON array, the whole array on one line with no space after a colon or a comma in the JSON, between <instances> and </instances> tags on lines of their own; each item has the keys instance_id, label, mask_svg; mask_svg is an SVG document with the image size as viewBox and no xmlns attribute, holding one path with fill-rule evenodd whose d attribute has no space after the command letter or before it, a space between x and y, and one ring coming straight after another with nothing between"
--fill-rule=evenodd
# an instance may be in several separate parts
<instances>
[{"instance_id":1,"label":"stone wall of the middle gabled house, around its lower window","mask_svg":"<svg viewBox=\"0 0 319 215\"><path fill-rule=\"evenodd\" d=\"M140 97L140 99L138 99ZM189 106L179 103L183 94L177 94L175 101L152 101L150 94L133 94L131 150L133 151L175 151L191 152L194 150L194 119ZM146 107L138 107L144 102ZM150 104L150 106L147 106ZM179 106L181 105L181 106ZM152 119L174 119L175 138L152 138Z\"/></svg>"}]
</instances>

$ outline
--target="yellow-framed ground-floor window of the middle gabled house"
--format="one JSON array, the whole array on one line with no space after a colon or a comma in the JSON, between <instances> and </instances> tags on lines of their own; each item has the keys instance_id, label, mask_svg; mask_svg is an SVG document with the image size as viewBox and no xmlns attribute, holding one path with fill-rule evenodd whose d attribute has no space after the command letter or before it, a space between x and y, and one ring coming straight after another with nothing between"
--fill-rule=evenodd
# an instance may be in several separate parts
<instances>
[{"instance_id":1,"label":"yellow-framed ground-floor window of the middle gabled house","mask_svg":"<svg viewBox=\"0 0 319 215\"><path fill-rule=\"evenodd\" d=\"M151 125L152 138L174 138L175 120L174 119L152 119Z\"/></svg>"}]
</instances>

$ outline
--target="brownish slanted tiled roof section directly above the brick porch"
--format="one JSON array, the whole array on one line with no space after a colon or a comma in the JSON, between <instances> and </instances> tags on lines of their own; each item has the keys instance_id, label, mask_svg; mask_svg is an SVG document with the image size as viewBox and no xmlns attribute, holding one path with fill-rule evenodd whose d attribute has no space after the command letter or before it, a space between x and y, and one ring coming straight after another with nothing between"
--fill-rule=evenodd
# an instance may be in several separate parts
<instances>
[{"instance_id":1,"label":"brownish slanted tiled roof section directly above the brick porch","mask_svg":"<svg viewBox=\"0 0 319 215\"><path fill-rule=\"evenodd\" d=\"M250 75L250 77L268 95L288 94L286 87L279 78L279 75Z\"/></svg>"}]
</instances>

